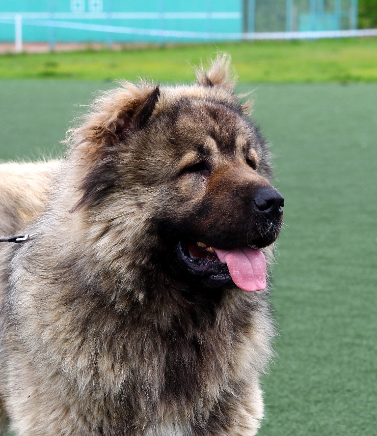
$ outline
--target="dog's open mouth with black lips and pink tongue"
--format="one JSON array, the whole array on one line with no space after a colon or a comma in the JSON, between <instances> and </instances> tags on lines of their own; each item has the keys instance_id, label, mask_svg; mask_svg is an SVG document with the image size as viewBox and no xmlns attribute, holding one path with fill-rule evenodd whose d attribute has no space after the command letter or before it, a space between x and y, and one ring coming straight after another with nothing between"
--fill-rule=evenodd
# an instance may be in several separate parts
<instances>
[{"instance_id":1,"label":"dog's open mouth with black lips and pink tongue","mask_svg":"<svg viewBox=\"0 0 377 436\"><path fill-rule=\"evenodd\" d=\"M203 278L210 286L233 282L243 291L266 288L266 260L257 248L222 250L203 242L180 241L176 253L190 274Z\"/></svg>"}]
</instances>

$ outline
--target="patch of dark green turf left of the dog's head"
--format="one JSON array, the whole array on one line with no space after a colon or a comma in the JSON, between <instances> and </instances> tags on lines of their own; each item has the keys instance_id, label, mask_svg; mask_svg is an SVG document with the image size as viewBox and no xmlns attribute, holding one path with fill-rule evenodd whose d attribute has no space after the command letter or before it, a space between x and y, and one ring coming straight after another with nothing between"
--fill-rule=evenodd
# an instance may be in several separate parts
<instances>
[{"instance_id":1,"label":"patch of dark green turf left of the dog's head","mask_svg":"<svg viewBox=\"0 0 377 436\"><path fill-rule=\"evenodd\" d=\"M91 81L0 80L0 159L56 156L72 120L98 89Z\"/></svg>"}]
</instances>

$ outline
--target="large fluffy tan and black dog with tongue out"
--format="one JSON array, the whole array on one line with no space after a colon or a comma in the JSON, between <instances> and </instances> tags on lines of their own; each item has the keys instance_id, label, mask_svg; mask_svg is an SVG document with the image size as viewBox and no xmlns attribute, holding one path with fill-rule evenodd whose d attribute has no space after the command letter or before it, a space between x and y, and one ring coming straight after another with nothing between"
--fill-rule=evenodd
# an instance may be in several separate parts
<instances>
[{"instance_id":1,"label":"large fluffy tan and black dog with tongue out","mask_svg":"<svg viewBox=\"0 0 377 436\"><path fill-rule=\"evenodd\" d=\"M0 166L0 413L17 436L251 436L283 197L230 58L122 82ZM266 269L267 268L267 269ZM266 282L267 280L267 282Z\"/></svg>"}]
</instances>

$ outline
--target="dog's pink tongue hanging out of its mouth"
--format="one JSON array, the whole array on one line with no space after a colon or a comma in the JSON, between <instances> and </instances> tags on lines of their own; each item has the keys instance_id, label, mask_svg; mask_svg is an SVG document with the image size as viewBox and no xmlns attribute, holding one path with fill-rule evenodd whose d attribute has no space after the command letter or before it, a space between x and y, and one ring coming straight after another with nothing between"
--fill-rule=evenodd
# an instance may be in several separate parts
<instances>
[{"instance_id":1,"label":"dog's pink tongue hanging out of its mouth","mask_svg":"<svg viewBox=\"0 0 377 436\"><path fill-rule=\"evenodd\" d=\"M233 282L243 291L266 288L266 259L261 250L250 247L220 250L214 247L220 262L228 265Z\"/></svg>"}]
</instances>

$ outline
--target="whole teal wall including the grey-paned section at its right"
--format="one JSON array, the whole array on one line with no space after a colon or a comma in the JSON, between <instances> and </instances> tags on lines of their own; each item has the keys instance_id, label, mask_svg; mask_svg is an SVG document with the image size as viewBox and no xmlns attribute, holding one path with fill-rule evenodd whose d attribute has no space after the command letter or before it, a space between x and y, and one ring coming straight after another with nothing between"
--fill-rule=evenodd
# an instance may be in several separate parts
<instances>
[{"instance_id":1,"label":"whole teal wall including the grey-paned section at its right","mask_svg":"<svg viewBox=\"0 0 377 436\"><path fill-rule=\"evenodd\" d=\"M222 34L338 30L355 28L357 0L0 0L0 41L14 40L14 13L22 14L26 42L168 42L195 39L52 29L31 20Z\"/></svg>"}]
</instances>

